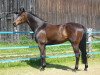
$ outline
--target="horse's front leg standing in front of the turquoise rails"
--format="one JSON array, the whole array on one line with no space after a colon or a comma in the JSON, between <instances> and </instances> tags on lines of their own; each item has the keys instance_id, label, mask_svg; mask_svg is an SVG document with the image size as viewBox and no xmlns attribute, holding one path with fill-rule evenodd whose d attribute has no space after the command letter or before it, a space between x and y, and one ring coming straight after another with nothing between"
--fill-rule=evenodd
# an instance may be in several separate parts
<instances>
[{"instance_id":1,"label":"horse's front leg standing in front of the turquoise rails","mask_svg":"<svg viewBox=\"0 0 100 75\"><path fill-rule=\"evenodd\" d=\"M46 51L45 51L45 45L44 44L39 44L39 49L40 49L40 57L41 57L41 69L45 69L46 67Z\"/></svg>"}]
</instances>

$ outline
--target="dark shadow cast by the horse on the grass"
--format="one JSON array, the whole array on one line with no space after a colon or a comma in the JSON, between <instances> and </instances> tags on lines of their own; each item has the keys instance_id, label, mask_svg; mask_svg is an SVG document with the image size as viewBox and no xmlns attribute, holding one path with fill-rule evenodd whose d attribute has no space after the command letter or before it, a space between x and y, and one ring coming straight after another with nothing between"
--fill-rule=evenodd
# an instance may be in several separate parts
<instances>
[{"instance_id":1,"label":"dark shadow cast by the horse on the grass","mask_svg":"<svg viewBox=\"0 0 100 75\"><path fill-rule=\"evenodd\" d=\"M37 69L40 69L40 66L41 66L40 60L30 60L30 61L26 61L26 63L30 65L31 67L35 67ZM56 68L56 69L61 69L61 70L75 71L73 68L68 67L68 66L59 65L59 64L50 64L50 63L46 63L46 68Z\"/></svg>"}]
</instances>

